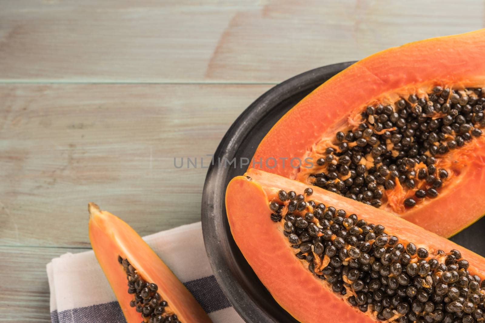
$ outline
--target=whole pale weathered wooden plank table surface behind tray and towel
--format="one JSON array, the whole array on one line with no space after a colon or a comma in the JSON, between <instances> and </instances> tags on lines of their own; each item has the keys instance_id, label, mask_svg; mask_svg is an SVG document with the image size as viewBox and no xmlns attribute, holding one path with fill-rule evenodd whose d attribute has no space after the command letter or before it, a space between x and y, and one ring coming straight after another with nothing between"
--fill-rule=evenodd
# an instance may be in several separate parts
<instances>
[{"instance_id":1,"label":"whole pale weathered wooden plank table surface behind tray and towel","mask_svg":"<svg viewBox=\"0 0 485 323\"><path fill-rule=\"evenodd\" d=\"M87 202L142 235L200 219L212 154L260 94L322 65L484 27L465 1L0 0L0 321L50 322L45 265Z\"/></svg>"}]
</instances>

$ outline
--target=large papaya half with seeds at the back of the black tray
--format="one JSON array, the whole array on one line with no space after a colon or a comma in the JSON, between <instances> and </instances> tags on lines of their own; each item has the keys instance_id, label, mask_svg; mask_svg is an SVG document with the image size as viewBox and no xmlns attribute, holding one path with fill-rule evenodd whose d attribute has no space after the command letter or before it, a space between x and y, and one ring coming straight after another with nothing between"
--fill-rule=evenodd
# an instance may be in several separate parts
<instances>
[{"instance_id":1,"label":"large papaya half with seeds at the back of the black tray","mask_svg":"<svg viewBox=\"0 0 485 323\"><path fill-rule=\"evenodd\" d=\"M287 112L251 167L449 237L485 214L484 51L479 30L356 62Z\"/></svg>"}]
</instances>

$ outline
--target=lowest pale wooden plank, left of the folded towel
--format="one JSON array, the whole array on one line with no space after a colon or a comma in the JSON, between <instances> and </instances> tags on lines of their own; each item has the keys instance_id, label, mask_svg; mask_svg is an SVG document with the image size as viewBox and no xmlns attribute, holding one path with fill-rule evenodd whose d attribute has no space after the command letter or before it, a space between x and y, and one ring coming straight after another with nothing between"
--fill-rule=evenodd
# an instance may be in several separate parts
<instances>
[{"instance_id":1,"label":"lowest pale wooden plank, left of the folded towel","mask_svg":"<svg viewBox=\"0 0 485 323\"><path fill-rule=\"evenodd\" d=\"M0 322L50 322L46 264L85 250L0 247Z\"/></svg>"}]
</instances>

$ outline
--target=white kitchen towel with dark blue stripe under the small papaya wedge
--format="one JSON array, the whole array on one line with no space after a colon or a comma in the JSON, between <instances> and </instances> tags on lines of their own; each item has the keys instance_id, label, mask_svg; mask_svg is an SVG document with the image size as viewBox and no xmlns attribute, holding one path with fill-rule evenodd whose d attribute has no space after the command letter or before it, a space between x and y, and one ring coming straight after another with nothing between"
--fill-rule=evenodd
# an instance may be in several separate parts
<instances>
[{"instance_id":1,"label":"white kitchen towel with dark blue stripe under the small papaya wedge","mask_svg":"<svg viewBox=\"0 0 485 323\"><path fill-rule=\"evenodd\" d=\"M214 323L244 322L212 275L200 222L145 241L192 292ZM52 323L123 323L121 308L93 251L66 253L47 265Z\"/></svg>"}]
</instances>

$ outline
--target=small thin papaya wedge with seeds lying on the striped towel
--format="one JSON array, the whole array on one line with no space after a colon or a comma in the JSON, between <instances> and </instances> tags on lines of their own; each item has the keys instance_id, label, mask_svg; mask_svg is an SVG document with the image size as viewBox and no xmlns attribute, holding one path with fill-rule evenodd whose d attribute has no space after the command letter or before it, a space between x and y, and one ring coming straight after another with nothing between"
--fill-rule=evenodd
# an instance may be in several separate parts
<instances>
[{"instance_id":1,"label":"small thin papaya wedge with seeds lying on the striped towel","mask_svg":"<svg viewBox=\"0 0 485 323\"><path fill-rule=\"evenodd\" d=\"M128 323L209 323L206 312L123 220L89 203L89 239Z\"/></svg>"}]
</instances>

